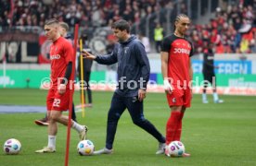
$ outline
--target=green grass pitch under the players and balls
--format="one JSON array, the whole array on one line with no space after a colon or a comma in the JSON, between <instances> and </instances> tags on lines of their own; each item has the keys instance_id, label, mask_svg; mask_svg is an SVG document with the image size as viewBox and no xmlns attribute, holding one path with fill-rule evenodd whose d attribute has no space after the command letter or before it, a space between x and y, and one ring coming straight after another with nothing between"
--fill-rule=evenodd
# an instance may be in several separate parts
<instances>
[{"instance_id":1,"label":"green grass pitch under the players and balls","mask_svg":"<svg viewBox=\"0 0 256 166\"><path fill-rule=\"evenodd\" d=\"M45 105L46 90L0 89L0 104ZM93 92L94 106L77 113L78 122L88 125L88 137L103 148L106 139L106 121L112 92ZM158 142L145 131L133 125L124 112L118 125L112 155L79 156L77 132L70 137L70 166L79 165L256 165L256 106L255 96L222 96L222 104L202 104L201 96L194 95L192 107L183 121L182 142L190 158L167 158L155 155ZM209 100L212 101L211 95ZM74 101L79 103L79 93ZM145 116L164 134L170 115L163 93L148 93ZM67 128L58 125L57 152L35 154L34 150L47 144L47 128L34 125L35 119L45 113L0 113L0 165L45 166L64 165ZM3 145L7 138L17 138L22 144L19 155L6 155Z\"/></svg>"}]
</instances>

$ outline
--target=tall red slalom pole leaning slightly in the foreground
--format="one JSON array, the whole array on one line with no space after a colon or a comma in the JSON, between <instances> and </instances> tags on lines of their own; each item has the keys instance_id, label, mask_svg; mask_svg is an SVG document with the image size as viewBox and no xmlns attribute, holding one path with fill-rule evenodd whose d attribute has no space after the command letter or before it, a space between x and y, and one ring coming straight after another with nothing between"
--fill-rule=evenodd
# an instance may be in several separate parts
<instances>
[{"instance_id":1,"label":"tall red slalom pole leaning slightly in the foreground","mask_svg":"<svg viewBox=\"0 0 256 166\"><path fill-rule=\"evenodd\" d=\"M70 89L70 105L69 105L69 123L67 127L67 142L66 142L66 156L65 156L65 166L69 165L69 156L70 156L70 126L71 126L71 117L72 117L72 102L73 102L73 93L74 93L74 74L75 74L75 60L76 60L76 48L77 48L77 38L78 38L78 29L79 25L75 24L74 29L74 47L73 47L73 58L74 58L74 64L72 65L72 73L70 76L70 80L72 81L70 83L71 89Z\"/></svg>"}]
</instances>

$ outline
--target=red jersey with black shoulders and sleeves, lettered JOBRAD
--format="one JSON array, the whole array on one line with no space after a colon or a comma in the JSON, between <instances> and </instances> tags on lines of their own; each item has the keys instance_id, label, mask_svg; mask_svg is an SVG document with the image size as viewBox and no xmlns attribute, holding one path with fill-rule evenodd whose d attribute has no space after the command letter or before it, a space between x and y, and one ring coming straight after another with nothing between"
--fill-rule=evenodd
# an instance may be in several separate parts
<instances>
[{"instance_id":1,"label":"red jersey with black shoulders and sleeves, lettered JOBRAD","mask_svg":"<svg viewBox=\"0 0 256 166\"><path fill-rule=\"evenodd\" d=\"M193 55L193 46L186 38L167 36L162 41L162 52L169 53L167 75L173 85L187 86L189 76L189 57Z\"/></svg>"}]
</instances>

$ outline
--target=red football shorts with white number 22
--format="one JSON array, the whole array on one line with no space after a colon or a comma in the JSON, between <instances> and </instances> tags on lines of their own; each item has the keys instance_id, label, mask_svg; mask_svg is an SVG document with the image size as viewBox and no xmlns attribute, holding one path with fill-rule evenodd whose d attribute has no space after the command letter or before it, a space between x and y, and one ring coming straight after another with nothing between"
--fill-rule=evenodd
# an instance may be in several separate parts
<instances>
[{"instance_id":1,"label":"red football shorts with white number 22","mask_svg":"<svg viewBox=\"0 0 256 166\"><path fill-rule=\"evenodd\" d=\"M59 94L58 89L49 89L46 106L47 111L67 111L70 104L70 89L66 89L64 94Z\"/></svg>"}]
</instances>

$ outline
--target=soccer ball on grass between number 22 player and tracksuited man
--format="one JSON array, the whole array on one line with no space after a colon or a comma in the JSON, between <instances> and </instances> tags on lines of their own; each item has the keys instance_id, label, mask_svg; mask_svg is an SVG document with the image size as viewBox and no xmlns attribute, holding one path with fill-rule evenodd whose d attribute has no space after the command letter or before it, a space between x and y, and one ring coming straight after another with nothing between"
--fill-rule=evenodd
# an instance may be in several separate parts
<instances>
[{"instance_id":1,"label":"soccer ball on grass between number 22 player and tracksuited man","mask_svg":"<svg viewBox=\"0 0 256 166\"><path fill-rule=\"evenodd\" d=\"M78 143L77 150L81 156L89 156L95 151L95 146L94 143L88 139L82 140Z\"/></svg>"}]
</instances>

